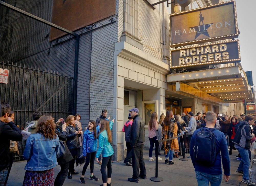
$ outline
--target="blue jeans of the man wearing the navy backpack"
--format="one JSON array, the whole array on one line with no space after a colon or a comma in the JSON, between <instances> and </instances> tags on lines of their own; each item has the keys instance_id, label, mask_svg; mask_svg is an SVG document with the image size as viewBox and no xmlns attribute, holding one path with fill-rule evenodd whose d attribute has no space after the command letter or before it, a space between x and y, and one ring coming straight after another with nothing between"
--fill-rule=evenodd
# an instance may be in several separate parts
<instances>
[{"instance_id":1,"label":"blue jeans of the man wearing the navy backpack","mask_svg":"<svg viewBox=\"0 0 256 186\"><path fill-rule=\"evenodd\" d=\"M222 174L219 175L212 175L207 174L204 172L196 172L196 180L198 186L208 186L209 182L211 183L211 186L220 186L222 181Z\"/></svg>"}]
</instances>

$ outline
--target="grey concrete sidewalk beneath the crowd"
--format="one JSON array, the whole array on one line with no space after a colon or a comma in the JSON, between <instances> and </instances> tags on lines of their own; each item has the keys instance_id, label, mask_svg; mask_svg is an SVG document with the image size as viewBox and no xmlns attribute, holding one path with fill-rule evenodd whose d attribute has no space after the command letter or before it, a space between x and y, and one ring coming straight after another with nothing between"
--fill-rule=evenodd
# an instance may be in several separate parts
<instances>
[{"instance_id":1,"label":"grey concrete sidewalk beneath the crowd","mask_svg":"<svg viewBox=\"0 0 256 186\"><path fill-rule=\"evenodd\" d=\"M129 182L127 181L128 177L132 177L132 166L126 166L123 161L112 163L112 185L122 185L122 186L155 186L155 185L172 185L172 186L188 186L188 185L197 185L196 174L194 171L193 164L191 159L189 161L180 161L179 158L174 158L174 165L168 165L164 163L165 157L163 155L163 151L161 151L161 155L159 157L162 158L161 161L158 161L158 176L163 177L164 180L162 182L153 182L149 178L155 176L155 161L148 161L148 149L143 149L144 152L144 160L147 171L147 179L140 179L139 183ZM237 155L237 150L232 150L232 156L230 156L230 180L225 183L222 181L222 186L232 186L232 185L240 185L242 176L238 176L235 174L237 167L240 161L236 160L235 155ZM155 153L153 152L153 156ZM186 158L189 154L186 154ZM26 165L26 161L14 162L10 176L8 179L8 186L21 186L23 184L25 170L24 167ZM89 180L90 175L90 166L85 174L85 185L100 185L102 184L100 165L98 163L94 163L94 174L99 178L99 181ZM72 179L69 180L66 178L63 186L70 185L79 185L79 178L81 176L83 166L75 167L75 170L80 172L78 175L72 175ZM60 166L55 167L55 177L60 171ZM81 184L82 185L82 184Z\"/></svg>"}]
</instances>

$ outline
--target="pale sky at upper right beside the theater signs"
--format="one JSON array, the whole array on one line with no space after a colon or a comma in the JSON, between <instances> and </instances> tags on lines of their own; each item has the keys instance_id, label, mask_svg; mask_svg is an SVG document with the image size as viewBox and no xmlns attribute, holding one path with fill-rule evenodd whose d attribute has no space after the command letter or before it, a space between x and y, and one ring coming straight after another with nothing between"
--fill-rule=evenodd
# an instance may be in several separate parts
<instances>
[{"instance_id":1,"label":"pale sky at upper right beside the theater signs","mask_svg":"<svg viewBox=\"0 0 256 186\"><path fill-rule=\"evenodd\" d=\"M236 0L236 10L241 65L244 71L252 71L256 85L256 0Z\"/></svg>"}]
</instances>

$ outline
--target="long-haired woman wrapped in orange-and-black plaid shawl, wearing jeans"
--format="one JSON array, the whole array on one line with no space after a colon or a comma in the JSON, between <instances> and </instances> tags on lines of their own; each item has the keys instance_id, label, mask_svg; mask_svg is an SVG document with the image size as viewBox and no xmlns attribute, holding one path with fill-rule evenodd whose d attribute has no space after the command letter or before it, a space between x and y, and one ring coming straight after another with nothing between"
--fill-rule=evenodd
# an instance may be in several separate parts
<instances>
[{"instance_id":1,"label":"long-haired woman wrapped in orange-and-black plaid shawl, wearing jeans","mask_svg":"<svg viewBox=\"0 0 256 186\"><path fill-rule=\"evenodd\" d=\"M164 118L164 139L169 139L177 136L178 125L176 120L174 119L173 111L168 110L166 112L166 116ZM165 163L169 163L169 165L174 164L173 162L173 153L179 152L178 139L172 139L168 141L164 141L164 149L165 149ZM169 157L169 159L168 159Z\"/></svg>"}]
</instances>

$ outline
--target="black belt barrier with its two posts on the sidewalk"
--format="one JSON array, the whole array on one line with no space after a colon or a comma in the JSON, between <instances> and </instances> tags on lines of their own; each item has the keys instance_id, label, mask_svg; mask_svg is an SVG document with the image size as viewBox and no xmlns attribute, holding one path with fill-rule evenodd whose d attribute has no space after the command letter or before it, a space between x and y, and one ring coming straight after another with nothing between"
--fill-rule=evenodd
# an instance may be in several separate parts
<instances>
[{"instance_id":1,"label":"black belt barrier with its two posts on the sidewalk","mask_svg":"<svg viewBox=\"0 0 256 186\"><path fill-rule=\"evenodd\" d=\"M182 149L183 158L180 158L179 160L188 161L188 159L185 159L185 140L186 140L187 135L193 135L193 134L189 134L189 133L185 132L184 134L181 134L179 136L169 138L169 139L163 139L163 140L156 139L156 144L155 144L156 145L156 150L155 150L155 153L156 153L156 174L155 174L155 177L150 178L151 181L159 182L159 181L164 180L162 177L158 177L158 148L159 148L159 142L168 141L168 140L178 138L180 136L184 136L184 145L183 145L183 149Z\"/></svg>"}]
</instances>

